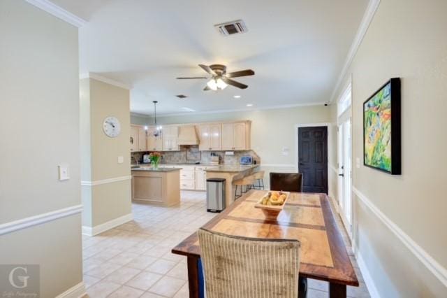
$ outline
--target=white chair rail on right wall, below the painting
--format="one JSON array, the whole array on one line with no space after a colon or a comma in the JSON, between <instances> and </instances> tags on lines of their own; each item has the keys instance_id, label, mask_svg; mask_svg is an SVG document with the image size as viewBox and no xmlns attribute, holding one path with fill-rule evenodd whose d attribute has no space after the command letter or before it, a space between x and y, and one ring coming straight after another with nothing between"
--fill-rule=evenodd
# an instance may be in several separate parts
<instances>
[{"instance_id":1,"label":"white chair rail on right wall, below the painting","mask_svg":"<svg viewBox=\"0 0 447 298\"><path fill-rule=\"evenodd\" d=\"M420 262L422 262L425 267L427 267L430 272L434 276L436 276L441 283L443 283L447 287L447 269L442 267L441 264L439 264L434 258L429 255L423 248L421 248L418 243L413 241L411 237L406 234L400 227L398 227L392 220L390 220L382 211L380 211L379 208L377 208L372 201L370 201L365 194L362 194L360 190L358 190L356 187L352 187L352 191L356 196L362 201L365 206L369 208L369 210L376 215L377 218L379 218L388 229L397 236L397 239L400 239L402 243L408 248L413 255L415 255Z\"/></svg>"}]
</instances>

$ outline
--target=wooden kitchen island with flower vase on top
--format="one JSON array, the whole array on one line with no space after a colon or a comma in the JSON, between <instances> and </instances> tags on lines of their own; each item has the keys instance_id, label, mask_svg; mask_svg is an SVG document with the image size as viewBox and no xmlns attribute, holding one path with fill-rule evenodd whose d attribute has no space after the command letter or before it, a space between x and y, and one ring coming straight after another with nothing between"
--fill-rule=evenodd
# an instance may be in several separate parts
<instances>
[{"instance_id":1,"label":"wooden kitchen island with flower vase on top","mask_svg":"<svg viewBox=\"0 0 447 298\"><path fill-rule=\"evenodd\" d=\"M131 170L132 201L161 206L180 203L181 168L134 166Z\"/></svg>"}]
</instances>

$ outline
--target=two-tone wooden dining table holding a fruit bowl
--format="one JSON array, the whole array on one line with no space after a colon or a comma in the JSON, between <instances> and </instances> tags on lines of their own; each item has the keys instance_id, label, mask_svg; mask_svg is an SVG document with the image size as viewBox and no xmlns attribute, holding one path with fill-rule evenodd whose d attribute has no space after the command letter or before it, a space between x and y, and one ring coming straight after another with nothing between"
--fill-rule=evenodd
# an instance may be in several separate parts
<instances>
[{"instance_id":1,"label":"two-tone wooden dining table holding a fruit bowl","mask_svg":"<svg viewBox=\"0 0 447 298\"><path fill-rule=\"evenodd\" d=\"M265 215L256 202L265 190L250 190L203 227L228 235L264 239L298 239L300 277L329 283L329 297L346 297L346 285L358 286L356 272L326 194L291 192L277 218ZM197 233L172 250L187 257L189 297L204 297Z\"/></svg>"}]
</instances>

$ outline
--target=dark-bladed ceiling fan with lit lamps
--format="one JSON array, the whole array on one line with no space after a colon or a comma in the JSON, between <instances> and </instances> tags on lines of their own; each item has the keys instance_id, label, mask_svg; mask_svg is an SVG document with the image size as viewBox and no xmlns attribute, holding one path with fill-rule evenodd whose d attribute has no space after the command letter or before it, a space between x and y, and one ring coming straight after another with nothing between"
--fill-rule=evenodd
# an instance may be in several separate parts
<instances>
[{"instance_id":1,"label":"dark-bladed ceiling fan with lit lamps","mask_svg":"<svg viewBox=\"0 0 447 298\"><path fill-rule=\"evenodd\" d=\"M231 80L231 78L254 75L254 71L252 71L251 69L245 69L243 71L233 71L232 73L227 73L226 66L222 65L222 64L212 64L210 66L198 64L198 66L200 66L201 69L203 69L204 71L209 73L211 75L211 78L206 77L206 76L195 76L195 77L177 78L177 79L178 80L200 79L200 78L210 79L207 82L207 85L205 86L205 88L203 90L204 91L207 91L207 90L216 91L216 90L223 90L228 85L232 85L232 86L238 87L240 89L245 89L249 86L239 83L239 82L236 82L235 80Z\"/></svg>"}]
</instances>

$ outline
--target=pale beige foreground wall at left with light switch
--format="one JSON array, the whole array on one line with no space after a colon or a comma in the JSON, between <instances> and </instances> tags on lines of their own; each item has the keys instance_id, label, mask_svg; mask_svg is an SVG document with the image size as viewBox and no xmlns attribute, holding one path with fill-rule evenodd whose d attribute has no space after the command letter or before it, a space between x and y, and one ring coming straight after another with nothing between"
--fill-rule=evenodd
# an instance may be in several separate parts
<instances>
[{"instance_id":1,"label":"pale beige foreground wall at left with light switch","mask_svg":"<svg viewBox=\"0 0 447 298\"><path fill-rule=\"evenodd\" d=\"M78 29L0 1L0 224L80 204ZM70 180L58 180L58 164ZM82 281L80 214L0 236L0 264L40 264L41 297ZM60 274L64 272L64 274Z\"/></svg>"}]
</instances>

